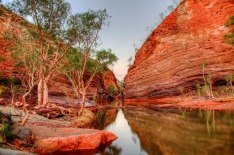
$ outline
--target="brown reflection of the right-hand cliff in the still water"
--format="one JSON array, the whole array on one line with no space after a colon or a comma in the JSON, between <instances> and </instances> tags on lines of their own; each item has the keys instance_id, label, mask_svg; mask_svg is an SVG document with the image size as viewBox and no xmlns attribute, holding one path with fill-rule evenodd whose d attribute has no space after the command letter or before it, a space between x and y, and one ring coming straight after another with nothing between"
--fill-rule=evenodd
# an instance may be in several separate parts
<instances>
[{"instance_id":1,"label":"brown reflection of the right-hand cliff in the still water","mask_svg":"<svg viewBox=\"0 0 234 155\"><path fill-rule=\"evenodd\" d=\"M155 154L233 154L234 113L123 110L141 147Z\"/></svg>"}]
</instances>

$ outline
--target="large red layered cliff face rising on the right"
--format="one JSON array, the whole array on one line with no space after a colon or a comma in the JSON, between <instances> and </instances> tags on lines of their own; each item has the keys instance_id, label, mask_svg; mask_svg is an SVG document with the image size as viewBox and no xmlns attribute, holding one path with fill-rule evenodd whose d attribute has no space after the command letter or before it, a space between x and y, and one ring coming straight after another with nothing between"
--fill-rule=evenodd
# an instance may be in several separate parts
<instances>
[{"instance_id":1,"label":"large red layered cliff face rising on the right","mask_svg":"<svg viewBox=\"0 0 234 155\"><path fill-rule=\"evenodd\" d=\"M202 64L216 84L234 73L234 47L223 40L233 0L184 0L156 28L135 56L124 81L125 98L174 96L178 88L194 89ZM126 100L126 101L127 101Z\"/></svg>"}]
</instances>

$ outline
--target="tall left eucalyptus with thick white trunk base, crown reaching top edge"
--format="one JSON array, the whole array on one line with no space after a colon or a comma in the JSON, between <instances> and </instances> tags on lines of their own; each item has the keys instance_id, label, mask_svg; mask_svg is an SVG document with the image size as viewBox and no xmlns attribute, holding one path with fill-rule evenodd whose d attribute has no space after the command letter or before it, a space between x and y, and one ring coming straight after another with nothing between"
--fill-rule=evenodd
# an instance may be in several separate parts
<instances>
[{"instance_id":1,"label":"tall left eucalyptus with thick white trunk base, crown reaching top edge","mask_svg":"<svg viewBox=\"0 0 234 155\"><path fill-rule=\"evenodd\" d=\"M64 0L13 0L8 4L8 8L25 18L33 19L36 25L35 29L28 30L28 35L33 37L34 48L38 52L38 63L35 66L38 73L33 74L34 79L38 79L38 105L46 107L48 104L47 83L59 74L60 62L70 48L69 44L62 42L64 24L70 13L70 4ZM23 40L24 38L21 38L21 44L18 46L25 46L22 44ZM22 53L31 51L27 48L21 50ZM27 60L34 60L34 56ZM27 69L27 64L24 64L24 67ZM28 72L31 74L32 70Z\"/></svg>"}]
</instances>

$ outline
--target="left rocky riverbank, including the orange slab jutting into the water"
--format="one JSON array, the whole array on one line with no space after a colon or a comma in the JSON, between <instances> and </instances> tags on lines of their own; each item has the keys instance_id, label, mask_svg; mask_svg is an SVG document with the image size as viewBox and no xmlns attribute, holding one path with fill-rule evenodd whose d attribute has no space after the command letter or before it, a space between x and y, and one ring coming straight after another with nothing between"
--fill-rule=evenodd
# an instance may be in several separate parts
<instances>
[{"instance_id":1,"label":"left rocky riverbank, including the orange slab jutting into the water","mask_svg":"<svg viewBox=\"0 0 234 155\"><path fill-rule=\"evenodd\" d=\"M36 154L68 151L95 152L111 144L117 138L111 132L78 128L87 123L84 120L90 119L85 118L90 117L87 115L88 110L85 110L79 118L63 116L56 119L48 119L36 114L35 111L30 111L30 117L25 126L19 123L20 118L17 116L17 114L25 116L23 110L17 109L16 114L12 106L1 105L0 111L11 115L12 132L17 137L9 141L5 148Z\"/></svg>"}]
</instances>

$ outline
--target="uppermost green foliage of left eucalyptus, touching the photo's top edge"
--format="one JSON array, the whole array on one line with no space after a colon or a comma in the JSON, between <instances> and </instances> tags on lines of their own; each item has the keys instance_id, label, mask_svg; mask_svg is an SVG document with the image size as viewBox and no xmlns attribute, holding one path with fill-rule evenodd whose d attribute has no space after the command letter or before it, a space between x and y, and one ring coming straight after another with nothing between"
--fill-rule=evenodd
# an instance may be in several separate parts
<instances>
[{"instance_id":1,"label":"uppermost green foliage of left eucalyptus, touching the photo's top edge","mask_svg":"<svg viewBox=\"0 0 234 155\"><path fill-rule=\"evenodd\" d=\"M7 8L20 16L32 17L38 28L52 34L53 38L59 36L71 10L70 4L65 0L13 0Z\"/></svg>"}]
</instances>

